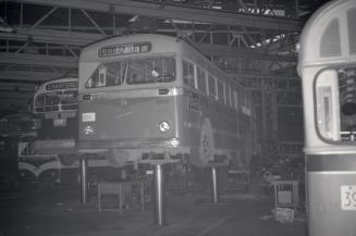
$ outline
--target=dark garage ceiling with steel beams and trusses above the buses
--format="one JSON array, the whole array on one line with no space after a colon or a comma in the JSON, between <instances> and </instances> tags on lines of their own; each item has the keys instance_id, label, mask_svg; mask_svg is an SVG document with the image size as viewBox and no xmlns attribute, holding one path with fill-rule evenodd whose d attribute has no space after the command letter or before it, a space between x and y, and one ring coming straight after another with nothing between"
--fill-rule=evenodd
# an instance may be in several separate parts
<instances>
[{"instance_id":1,"label":"dark garage ceiling with steel beams and trusses above the buses","mask_svg":"<svg viewBox=\"0 0 356 236\"><path fill-rule=\"evenodd\" d=\"M299 89L295 46L321 1L1 1L1 96L77 74L81 49L112 35L185 38L251 89ZM261 83L263 80L263 83Z\"/></svg>"}]
</instances>

